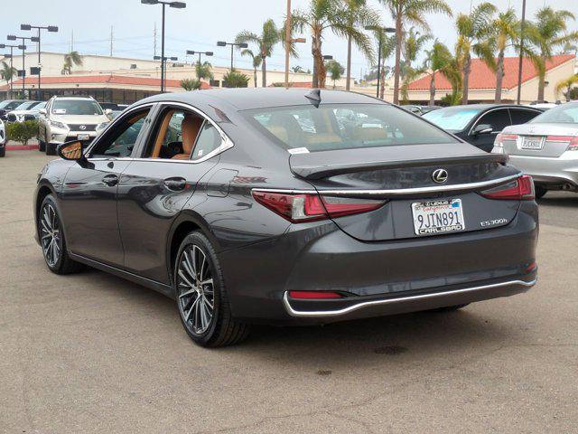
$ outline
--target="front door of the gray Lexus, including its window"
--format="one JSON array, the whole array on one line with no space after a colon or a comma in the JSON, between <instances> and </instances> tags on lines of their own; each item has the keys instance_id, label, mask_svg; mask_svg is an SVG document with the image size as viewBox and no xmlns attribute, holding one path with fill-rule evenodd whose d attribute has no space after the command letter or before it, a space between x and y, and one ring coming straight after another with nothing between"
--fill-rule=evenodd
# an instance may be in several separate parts
<instances>
[{"instance_id":1,"label":"front door of the gray Lexus, including its window","mask_svg":"<svg viewBox=\"0 0 578 434\"><path fill-rule=\"evenodd\" d=\"M107 128L87 150L87 163L70 167L61 190L61 215L70 251L121 267L124 250L118 231L117 189L131 164L150 106L131 110Z\"/></svg>"}]
</instances>

